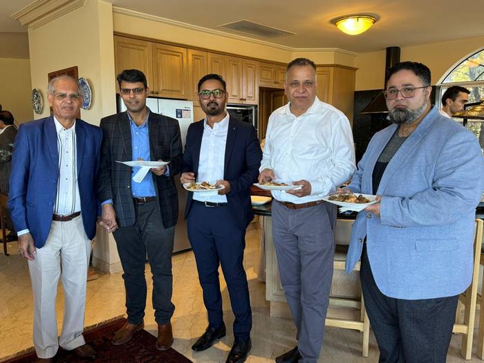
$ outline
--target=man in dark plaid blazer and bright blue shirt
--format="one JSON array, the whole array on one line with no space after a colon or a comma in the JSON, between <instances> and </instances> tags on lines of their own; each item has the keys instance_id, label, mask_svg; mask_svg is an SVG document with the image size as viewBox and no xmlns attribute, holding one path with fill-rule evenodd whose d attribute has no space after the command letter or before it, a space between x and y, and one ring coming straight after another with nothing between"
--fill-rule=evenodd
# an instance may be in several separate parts
<instances>
[{"instance_id":1,"label":"man in dark plaid blazer and bright blue shirt","mask_svg":"<svg viewBox=\"0 0 484 363\"><path fill-rule=\"evenodd\" d=\"M156 348L167 350L173 343L170 319L173 250L178 198L174 176L180 172L182 145L178 121L151 112L145 75L136 69L118 75L126 112L101 120L104 131L98 192L102 221L113 232L124 270L127 323L113 344L128 342L144 327L147 298L145 261L148 255L153 274L153 308L158 323ZM117 161L163 160L168 165L151 169L140 183L133 180L139 167Z\"/></svg>"}]
</instances>

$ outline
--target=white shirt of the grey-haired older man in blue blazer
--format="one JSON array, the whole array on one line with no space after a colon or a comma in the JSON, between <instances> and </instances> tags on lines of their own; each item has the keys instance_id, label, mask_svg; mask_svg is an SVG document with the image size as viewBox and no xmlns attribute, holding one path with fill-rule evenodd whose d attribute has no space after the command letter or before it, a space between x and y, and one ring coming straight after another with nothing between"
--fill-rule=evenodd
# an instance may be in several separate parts
<instances>
[{"instance_id":1,"label":"white shirt of the grey-haired older man in blue blazer","mask_svg":"<svg viewBox=\"0 0 484 363\"><path fill-rule=\"evenodd\" d=\"M64 129L54 116L57 131L57 153L59 155L59 178L53 214L68 216L81 210L81 198L77 183L77 144L75 139L75 122L69 129ZM18 236L29 233L21 230Z\"/></svg>"}]
</instances>

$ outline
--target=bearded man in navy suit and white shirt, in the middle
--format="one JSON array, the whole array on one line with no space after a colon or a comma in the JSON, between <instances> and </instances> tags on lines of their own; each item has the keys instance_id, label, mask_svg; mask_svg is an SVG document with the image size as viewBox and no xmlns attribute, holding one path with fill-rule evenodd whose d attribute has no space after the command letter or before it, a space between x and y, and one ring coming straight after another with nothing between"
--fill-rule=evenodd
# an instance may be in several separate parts
<instances>
[{"instance_id":1,"label":"bearded man in navy suit and white shirt, in the middle","mask_svg":"<svg viewBox=\"0 0 484 363\"><path fill-rule=\"evenodd\" d=\"M262 152L252 124L230 117L225 110L227 92L221 76L205 75L198 82L198 100L206 117L188 128L180 181L206 181L223 189L190 193L185 208L209 321L192 349L203 351L225 336L218 283L220 264L235 315L235 341L226 362L241 363L251 348L252 327L243 269L245 229L254 218L250 185L257 180Z\"/></svg>"}]
</instances>

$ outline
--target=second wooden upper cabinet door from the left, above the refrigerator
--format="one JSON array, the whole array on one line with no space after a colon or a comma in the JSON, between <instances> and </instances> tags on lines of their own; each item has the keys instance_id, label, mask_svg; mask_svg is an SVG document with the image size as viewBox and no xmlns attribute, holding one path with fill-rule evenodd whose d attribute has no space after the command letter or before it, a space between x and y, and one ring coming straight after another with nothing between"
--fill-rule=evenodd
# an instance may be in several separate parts
<instances>
[{"instance_id":1,"label":"second wooden upper cabinet door from the left, above the refrigerator","mask_svg":"<svg viewBox=\"0 0 484 363\"><path fill-rule=\"evenodd\" d=\"M153 44L153 93L186 100L188 88L187 49Z\"/></svg>"}]
</instances>

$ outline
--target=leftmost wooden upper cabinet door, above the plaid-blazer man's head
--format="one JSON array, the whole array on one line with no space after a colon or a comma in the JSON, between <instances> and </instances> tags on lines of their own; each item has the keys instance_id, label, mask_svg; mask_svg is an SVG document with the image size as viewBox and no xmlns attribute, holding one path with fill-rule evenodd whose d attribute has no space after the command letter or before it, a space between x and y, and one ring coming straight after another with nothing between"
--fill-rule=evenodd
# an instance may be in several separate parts
<instances>
[{"instance_id":1,"label":"leftmost wooden upper cabinet door, above the plaid-blazer man's head","mask_svg":"<svg viewBox=\"0 0 484 363\"><path fill-rule=\"evenodd\" d=\"M120 74L124 69L139 69L148 81L148 86L153 86L152 47L149 41L114 36L114 68L115 74ZM116 80L115 80L116 82ZM118 89L118 84L116 84Z\"/></svg>"}]
</instances>

